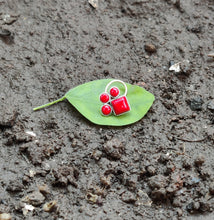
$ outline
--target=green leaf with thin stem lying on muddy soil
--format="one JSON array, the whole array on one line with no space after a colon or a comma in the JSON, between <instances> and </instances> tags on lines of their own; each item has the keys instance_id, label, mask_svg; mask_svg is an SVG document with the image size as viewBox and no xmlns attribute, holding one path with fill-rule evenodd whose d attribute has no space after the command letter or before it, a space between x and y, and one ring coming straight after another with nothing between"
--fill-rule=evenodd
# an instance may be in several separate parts
<instances>
[{"instance_id":1,"label":"green leaf with thin stem lying on muddy soil","mask_svg":"<svg viewBox=\"0 0 214 220\"><path fill-rule=\"evenodd\" d=\"M52 103L37 107L38 110L50 104L62 101L65 98L88 120L98 125L123 126L132 124L140 120L150 109L155 97L145 89L126 83L128 93L127 99L131 106L131 111L115 116L103 116L101 114L102 103L99 96L104 92L106 85L113 79L95 80L69 90L64 97ZM112 85L120 89L121 95L125 92L125 88L121 83L115 82Z\"/></svg>"}]
</instances>

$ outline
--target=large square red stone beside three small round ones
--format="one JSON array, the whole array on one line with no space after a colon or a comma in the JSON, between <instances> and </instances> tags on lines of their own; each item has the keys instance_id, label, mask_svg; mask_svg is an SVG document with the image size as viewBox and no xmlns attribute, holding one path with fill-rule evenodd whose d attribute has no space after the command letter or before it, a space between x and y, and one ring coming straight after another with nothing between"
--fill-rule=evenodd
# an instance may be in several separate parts
<instances>
[{"instance_id":1,"label":"large square red stone beside three small round ones","mask_svg":"<svg viewBox=\"0 0 214 220\"><path fill-rule=\"evenodd\" d=\"M115 115L121 115L125 112L130 111L130 106L126 96L122 96L118 99L111 101Z\"/></svg>"}]
</instances>

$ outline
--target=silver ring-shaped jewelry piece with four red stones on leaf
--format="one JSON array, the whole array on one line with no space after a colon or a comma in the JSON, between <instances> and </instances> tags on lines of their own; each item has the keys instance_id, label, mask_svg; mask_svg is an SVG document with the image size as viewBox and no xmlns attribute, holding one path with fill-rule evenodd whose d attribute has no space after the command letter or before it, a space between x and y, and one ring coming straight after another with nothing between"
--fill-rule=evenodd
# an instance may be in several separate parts
<instances>
[{"instance_id":1,"label":"silver ring-shaped jewelry piece with four red stones on leaf","mask_svg":"<svg viewBox=\"0 0 214 220\"><path fill-rule=\"evenodd\" d=\"M115 86L111 87L109 91L110 94L108 93L108 88L115 82L119 82L125 87L125 93L122 96L120 96L120 90ZM127 90L126 84L121 80L112 80L108 83L105 88L105 92L100 95L100 101L103 103L101 113L104 116L109 116L112 112L114 112L116 116L119 116L129 112L131 107L126 97Z\"/></svg>"}]
</instances>

